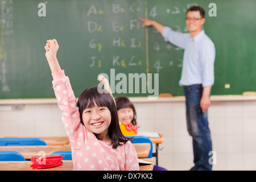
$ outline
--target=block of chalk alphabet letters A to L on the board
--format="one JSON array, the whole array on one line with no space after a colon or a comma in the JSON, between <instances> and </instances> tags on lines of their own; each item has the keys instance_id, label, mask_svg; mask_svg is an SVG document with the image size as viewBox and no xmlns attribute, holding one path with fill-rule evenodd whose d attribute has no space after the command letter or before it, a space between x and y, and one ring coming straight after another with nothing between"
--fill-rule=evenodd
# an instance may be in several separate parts
<instances>
[{"instance_id":1,"label":"block of chalk alphabet letters A to L on the board","mask_svg":"<svg viewBox=\"0 0 256 182\"><path fill-rule=\"evenodd\" d=\"M106 49L110 48L109 45L112 45L112 50L114 52L119 52L120 49L123 51L131 51L132 49L134 50L142 48L142 42L144 41L143 36L139 36L139 38L137 36L127 38L126 33L134 32L134 35L136 35L137 31L143 28L141 21L138 19L138 17L142 16L143 14L138 16L136 15L134 16L135 18L126 19L125 21L119 18L120 16L128 16L128 14L128 17L130 17L130 14L142 13L142 9L144 8L143 6L141 7L141 5L143 5L143 3L133 2L129 6L113 3L113 5L106 6L101 10L98 10L98 6L88 6L89 9L87 9L85 12L86 17L88 17L88 21L85 23L87 25L87 31L91 34L90 37L92 37L92 39L89 40L88 45L89 48L97 51L97 55L94 51L88 56L89 67L102 68L104 67L104 64L108 64L108 61L111 59L113 67L122 67L128 69L127 67L141 67L143 65L144 60L137 55L130 55L128 57L123 55L113 55L112 57L106 57L106 52L104 52ZM104 13L112 13L112 19L109 19L108 23L102 23L100 19L97 20L94 18L95 16L100 16L100 14ZM114 17L117 18L115 19ZM101 35L106 35L104 34L106 31L108 31L108 35L110 36L113 35L112 32L114 35L116 35L109 38L110 44L105 40L100 40L102 38ZM122 32L125 32L125 34Z\"/></svg>"}]
</instances>

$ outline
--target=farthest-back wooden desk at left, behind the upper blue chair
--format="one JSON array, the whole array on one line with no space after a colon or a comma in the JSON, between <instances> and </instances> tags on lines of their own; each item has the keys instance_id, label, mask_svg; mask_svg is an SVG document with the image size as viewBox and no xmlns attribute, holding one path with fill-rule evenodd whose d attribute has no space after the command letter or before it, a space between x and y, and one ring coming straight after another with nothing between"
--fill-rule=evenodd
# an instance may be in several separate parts
<instances>
[{"instance_id":1,"label":"farthest-back wooden desk at left, behind the upper blue chair","mask_svg":"<svg viewBox=\"0 0 256 182\"><path fill-rule=\"evenodd\" d=\"M46 142L47 145L57 145L57 146L63 146L64 144L69 144L69 138L68 136L33 136L32 138L42 138L44 142ZM31 138L29 137L5 137L5 138Z\"/></svg>"}]
</instances>

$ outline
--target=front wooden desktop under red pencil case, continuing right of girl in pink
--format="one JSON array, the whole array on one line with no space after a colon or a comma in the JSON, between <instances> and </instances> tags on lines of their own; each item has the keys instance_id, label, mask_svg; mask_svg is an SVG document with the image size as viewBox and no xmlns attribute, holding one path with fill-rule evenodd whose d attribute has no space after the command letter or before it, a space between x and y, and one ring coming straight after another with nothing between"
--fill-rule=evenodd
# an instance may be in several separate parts
<instances>
[{"instance_id":1,"label":"front wooden desktop under red pencil case, continuing right of girl in pink","mask_svg":"<svg viewBox=\"0 0 256 182\"><path fill-rule=\"evenodd\" d=\"M153 162L153 159L143 159ZM46 169L35 169L30 167L30 161L1 161L0 171L72 171L73 162L72 160L63 160L63 165L46 168ZM139 171L152 171L154 164L140 165Z\"/></svg>"}]
</instances>

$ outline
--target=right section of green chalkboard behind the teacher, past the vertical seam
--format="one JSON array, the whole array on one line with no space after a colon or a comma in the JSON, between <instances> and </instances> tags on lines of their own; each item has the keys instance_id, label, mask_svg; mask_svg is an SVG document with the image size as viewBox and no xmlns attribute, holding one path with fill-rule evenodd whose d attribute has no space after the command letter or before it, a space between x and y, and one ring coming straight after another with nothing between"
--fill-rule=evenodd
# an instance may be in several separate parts
<instances>
[{"instance_id":1,"label":"right section of green chalkboard behind the teacher, past the vertical seam","mask_svg":"<svg viewBox=\"0 0 256 182\"><path fill-rule=\"evenodd\" d=\"M216 4L216 16L209 15L212 13L210 3ZM255 1L183 0L163 1L159 5L148 1L148 19L157 20L176 31L188 32L185 11L193 5L205 9L206 22L203 28L216 47L212 95L256 91ZM148 42L151 44L150 71L160 75L160 92L183 95L183 88L178 82L184 51L164 42L154 28L149 28L148 31Z\"/></svg>"}]
</instances>

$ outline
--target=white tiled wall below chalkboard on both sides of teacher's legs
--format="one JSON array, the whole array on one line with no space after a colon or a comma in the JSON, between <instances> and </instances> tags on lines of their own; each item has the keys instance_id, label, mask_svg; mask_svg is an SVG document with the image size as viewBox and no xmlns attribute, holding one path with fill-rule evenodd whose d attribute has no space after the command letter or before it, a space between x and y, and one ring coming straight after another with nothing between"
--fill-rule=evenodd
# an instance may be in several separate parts
<instances>
[{"instance_id":1,"label":"white tiled wall below chalkboard on both sides of teacher's legs","mask_svg":"<svg viewBox=\"0 0 256 182\"><path fill-rule=\"evenodd\" d=\"M193 166L184 102L135 104L141 130L164 132L159 166L187 170ZM212 102L208 111L213 170L256 170L256 101Z\"/></svg>"}]
</instances>

